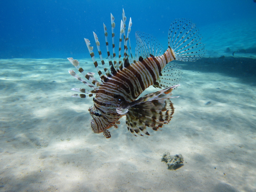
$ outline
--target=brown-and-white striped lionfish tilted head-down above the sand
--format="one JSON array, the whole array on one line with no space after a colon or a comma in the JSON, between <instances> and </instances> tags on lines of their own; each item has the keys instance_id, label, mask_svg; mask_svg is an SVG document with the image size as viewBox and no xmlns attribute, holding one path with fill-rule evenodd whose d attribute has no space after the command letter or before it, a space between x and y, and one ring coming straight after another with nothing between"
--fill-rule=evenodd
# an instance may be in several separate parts
<instances>
[{"instance_id":1,"label":"brown-and-white striped lionfish tilted head-down above the sand","mask_svg":"<svg viewBox=\"0 0 256 192\"><path fill-rule=\"evenodd\" d=\"M146 127L157 131L164 124L168 124L175 109L170 99L176 97L170 97L171 92L180 86L173 84L180 77L180 67L170 62L173 60L195 61L204 55L204 45L201 43L201 35L195 24L187 19L176 19L168 31L167 50L163 49L155 37L136 32L134 57L129 39L132 20L130 18L127 32L125 22L126 17L123 9L118 61L114 44L115 23L113 15L111 14L113 57L109 51L107 28L103 23L110 71L105 67L97 35L93 32L104 72L99 69L90 41L84 38L100 76L100 81L94 78L94 73L85 73L78 60L67 58L86 79L79 77L73 70L70 70L69 73L90 88L90 90L72 88L71 90L81 93L74 94L72 97L85 98L86 94L89 97L94 96L94 105L89 108L93 118L91 128L94 133L103 132L106 138L111 137L108 129L112 126L118 128L119 119L124 115L126 115L127 129L135 136L143 136L142 133L150 135ZM123 58L121 58L122 41L124 46ZM137 99L151 85L155 88L163 87L164 89Z\"/></svg>"}]
</instances>

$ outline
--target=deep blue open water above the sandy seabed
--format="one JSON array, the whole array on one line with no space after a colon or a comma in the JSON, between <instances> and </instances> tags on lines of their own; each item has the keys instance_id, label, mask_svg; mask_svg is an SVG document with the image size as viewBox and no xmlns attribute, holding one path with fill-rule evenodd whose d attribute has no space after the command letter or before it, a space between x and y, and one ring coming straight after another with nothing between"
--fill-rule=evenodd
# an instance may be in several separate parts
<instances>
[{"instance_id":1,"label":"deep blue open water above the sandy seabed","mask_svg":"<svg viewBox=\"0 0 256 192\"><path fill-rule=\"evenodd\" d=\"M197 26L255 17L253 0L217 1L0 1L0 58L66 58L89 56L83 37L97 33L104 45L104 22L110 34L110 13L116 33L122 8L132 17L131 40L135 31L167 39L175 18L192 19ZM242 35L242 34L241 34ZM118 35L116 35L118 40ZM225 39L223 39L225 40ZM109 38L110 41L110 38ZM167 41L167 40L166 40ZM163 44L165 42L162 42ZM101 46L104 53L105 47Z\"/></svg>"}]
</instances>

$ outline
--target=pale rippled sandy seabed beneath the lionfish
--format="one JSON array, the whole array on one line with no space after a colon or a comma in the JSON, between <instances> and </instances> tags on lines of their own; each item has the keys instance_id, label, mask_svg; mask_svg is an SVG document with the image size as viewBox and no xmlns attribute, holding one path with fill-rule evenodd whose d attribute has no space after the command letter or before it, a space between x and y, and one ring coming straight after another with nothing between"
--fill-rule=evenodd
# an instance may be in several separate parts
<instances>
[{"instance_id":1,"label":"pale rippled sandy seabed beneath the lionfish","mask_svg":"<svg viewBox=\"0 0 256 192\"><path fill-rule=\"evenodd\" d=\"M91 131L92 98L70 97L83 84L68 60L0 67L0 191L256 191L252 82L185 67L168 125L135 137L122 118L106 139ZM183 166L167 169L165 152L182 154Z\"/></svg>"}]
</instances>

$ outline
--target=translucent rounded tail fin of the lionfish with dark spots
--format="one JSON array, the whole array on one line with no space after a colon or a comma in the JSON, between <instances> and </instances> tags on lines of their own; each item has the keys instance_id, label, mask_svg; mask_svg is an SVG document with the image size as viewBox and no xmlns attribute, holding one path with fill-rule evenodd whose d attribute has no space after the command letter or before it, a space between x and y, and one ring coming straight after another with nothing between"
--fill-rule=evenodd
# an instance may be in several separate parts
<instances>
[{"instance_id":1,"label":"translucent rounded tail fin of the lionfish with dark spots","mask_svg":"<svg viewBox=\"0 0 256 192\"><path fill-rule=\"evenodd\" d=\"M196 25L187 19L175 19L168 33L168 47L174 60L196 61L205 55L202 36Z\"/></svg>"}]
</instances>

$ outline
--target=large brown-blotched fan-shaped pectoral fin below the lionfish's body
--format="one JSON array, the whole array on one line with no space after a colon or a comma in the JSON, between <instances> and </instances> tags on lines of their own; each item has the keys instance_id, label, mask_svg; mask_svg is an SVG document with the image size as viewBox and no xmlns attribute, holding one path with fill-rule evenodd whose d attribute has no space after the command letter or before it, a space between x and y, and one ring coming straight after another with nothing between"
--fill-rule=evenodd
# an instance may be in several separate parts
<instances>
[{"instance_id":1,"label":"large brown-blotched fan-shaped pectoral fin below the lionfish's body","mask_svg":"<svg viewBox=\"0 0 256 192\"><path fill-rule=\"evenodd\" d=\"M177 86L179 85L147 94L128 104L121 104L116 111L119 114L126 113L126 124L131 133L149 135L146 127L156 131L172 118L174 107L170 98L176 97L170 97L170 95Z\"/></svg>"}]
</instances>

